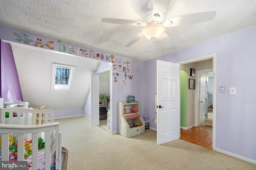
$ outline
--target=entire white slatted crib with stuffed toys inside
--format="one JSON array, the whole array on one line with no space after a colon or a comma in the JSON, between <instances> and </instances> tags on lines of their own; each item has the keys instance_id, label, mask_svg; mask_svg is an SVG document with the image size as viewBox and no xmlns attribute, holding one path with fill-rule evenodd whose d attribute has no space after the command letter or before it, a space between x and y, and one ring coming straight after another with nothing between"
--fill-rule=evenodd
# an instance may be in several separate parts
<instances>
[{"instance_id":1,"label":"entire white slatted crib with stuffed toys inside","mask_svg":"<svg viewBox=\"0 0 256 170\"><path fill-rule=\"evenodd\" d=\"M0 104L0 107L1 106L2 104ZM17 114L17 117L13 117L12 113L14 111ZM9 112L8 119L5 117L5 112ZM43 118L43 125L35 125L36 114L38 114L39 120ZM38 122L41 124L41 121ZM55 162L56 170L66 169L68 150L65 147L62 147L59 123L54 123L52 109L33 110L18 107L1 108L0 123L0 142L2 143L0 144L1 161L9 160L9 134L11 134L13 137L18 138L17 153L21 153L17 154L16 160L24 161L26 159L24 158L24 141L32 140L32 155L30 155L32 157L32 168L29 168L29 170L41 170L41 168L38 167L41 166L39 162L42 162L38 158L38 154L40 154L41 150L38 150L37 146L38 138L43 137L45 148L43 158L44 167L42 169L50 170L50 163L53 161Z\"/></svg>"}]
</instances>

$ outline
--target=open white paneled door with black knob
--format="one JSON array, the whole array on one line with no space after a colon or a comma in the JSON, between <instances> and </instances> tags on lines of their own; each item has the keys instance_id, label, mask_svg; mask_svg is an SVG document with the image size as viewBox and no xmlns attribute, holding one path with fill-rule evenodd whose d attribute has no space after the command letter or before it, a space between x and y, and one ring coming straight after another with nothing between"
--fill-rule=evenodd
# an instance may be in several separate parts
<instances>
[{"instance_id":1,"label":"open white paneled door with black knob","mask_svg":"<svg viewBox=\"0 0 256 170\"><path fill-rule=\"evenodd\" d=\"M180 64L157 61L157 145L180 139Z\"/></svg>"}]
</instances>

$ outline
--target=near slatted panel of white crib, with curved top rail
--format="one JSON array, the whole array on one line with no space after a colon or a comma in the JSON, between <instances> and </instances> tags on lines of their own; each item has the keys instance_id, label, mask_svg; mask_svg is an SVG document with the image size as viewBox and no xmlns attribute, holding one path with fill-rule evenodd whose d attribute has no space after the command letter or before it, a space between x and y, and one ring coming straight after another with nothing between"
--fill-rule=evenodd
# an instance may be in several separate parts
<instances>
[{"instance_id":1,"label":"near slatted panel of white crib, with curved top rail","mask_svg":"<svg viewBox=\"0 0 256 170\"><path fill-rule=\"evenodd\" d=\"M1 145L1 161L9 161L9 134L17 134L17 161L24 161L24 139L29 133L32 134L32 170L38 170L38 134L44 132L45 148L44 161L45 170L50 170L51 154L55 155L56 170L62 169L62 149L61 149L61 132L59 131L59 123L49 123L44 125L3 125L0 124L0 134L2 137ZM55 135L51 135L56 132ZM51 137L52 136L52 137ZM51 143L51 141L56 141ZM56 147L54 147L54 145ZM51 149L52 148L52 149ZM55 148L55 150L53 150ZM21 154L19 154L21 153Z\"/></svg>"}]
</instances>

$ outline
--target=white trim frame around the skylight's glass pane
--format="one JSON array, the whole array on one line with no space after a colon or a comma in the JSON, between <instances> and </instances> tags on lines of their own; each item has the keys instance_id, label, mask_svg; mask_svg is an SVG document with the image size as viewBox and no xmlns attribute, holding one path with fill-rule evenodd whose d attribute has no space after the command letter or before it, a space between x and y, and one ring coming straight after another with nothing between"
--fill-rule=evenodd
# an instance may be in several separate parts
<instances>
[{"instance_id":1,"label":"white trim frame around the skylight's glass pane","mask_svg":"<svg viewBox=\"0 0 256 170\"><path fill-rule=\"evenodd\" d=\"M65 84L55 84L55 76L56 76L56 67L63 67L70 69L70 74L68 78L68 85ZM68 91L71 89L73 82L74 82L74 76L76 72L75 66L68 66L64 64L56 64L52 63L52 90L53 91Z\"/></svg>"}]
</instances>

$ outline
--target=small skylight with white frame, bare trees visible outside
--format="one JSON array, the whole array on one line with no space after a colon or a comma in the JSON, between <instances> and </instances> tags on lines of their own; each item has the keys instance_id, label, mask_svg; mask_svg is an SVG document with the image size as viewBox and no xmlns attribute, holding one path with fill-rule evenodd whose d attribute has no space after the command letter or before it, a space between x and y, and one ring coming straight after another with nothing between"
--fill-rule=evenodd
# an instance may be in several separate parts
<instances>
[{"instance_id":1,"label":"small skylight with white frame, bare trees visible outside","mask_svg":"<svg viewBox=\"0 0 256 170\"><path fill-rule=\"evenodd\" d=\"M52 63L52 90L70 90L75 71L75 66Z\"/></svg>"}]
</instances>

